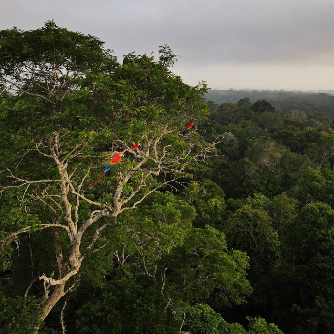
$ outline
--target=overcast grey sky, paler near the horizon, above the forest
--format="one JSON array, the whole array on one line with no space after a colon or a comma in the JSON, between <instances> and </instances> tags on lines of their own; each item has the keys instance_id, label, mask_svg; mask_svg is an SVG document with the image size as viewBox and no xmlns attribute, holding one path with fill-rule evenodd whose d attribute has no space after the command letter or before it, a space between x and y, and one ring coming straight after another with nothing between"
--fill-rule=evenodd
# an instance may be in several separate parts
<instances>
[{"instance_id":1,"label":"overcast grey sky, paler near the horizon, above the forest","mask_svg":"<svg viewBox=\"0 0 334 334\"><path fill-rule=\"evenodd\" d=\"M0 0L0 29L54 19L122 55L178 55L211 89L333 90L334 0Z\"/></svg>"}]
</instances>

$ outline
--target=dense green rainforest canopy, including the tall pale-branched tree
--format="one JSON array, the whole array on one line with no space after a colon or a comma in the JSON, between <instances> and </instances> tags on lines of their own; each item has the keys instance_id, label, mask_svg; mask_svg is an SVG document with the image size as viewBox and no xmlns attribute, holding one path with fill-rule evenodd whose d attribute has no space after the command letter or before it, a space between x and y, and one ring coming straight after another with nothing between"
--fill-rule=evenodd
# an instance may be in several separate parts
<instances>
[{"instance_id":1,"label":"dense green rainforest canopy, including the tall pale-branched tree","mask_svg":"<svg viewBox=\"0 0 334 334\"><path fill-rule=\"evenodd\" d=\"M0 333L333 333L331 114L103 44L0 31Z\"/></svg>"}]
</instances>

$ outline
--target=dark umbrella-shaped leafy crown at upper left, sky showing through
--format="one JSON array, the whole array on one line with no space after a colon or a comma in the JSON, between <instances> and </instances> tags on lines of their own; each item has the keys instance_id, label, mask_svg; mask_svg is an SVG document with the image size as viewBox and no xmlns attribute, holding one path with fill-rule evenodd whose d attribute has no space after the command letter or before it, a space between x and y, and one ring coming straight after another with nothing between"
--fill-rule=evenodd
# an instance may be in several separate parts
<instances>
[{"instance_id":1,"label":"dark umbrella-shaped leafy crown at upper left, sky showing through","mask_svg":"<svg viewBox=\"0 0 334 334\"><path fill-rule=\"evenodd\" d=\"M53 114L87 71L98 70L111 57L98 38L59 28L54 21L37 30L2 30L0 36L2 90L47 103Z\"/></svg>"}]
</instances>

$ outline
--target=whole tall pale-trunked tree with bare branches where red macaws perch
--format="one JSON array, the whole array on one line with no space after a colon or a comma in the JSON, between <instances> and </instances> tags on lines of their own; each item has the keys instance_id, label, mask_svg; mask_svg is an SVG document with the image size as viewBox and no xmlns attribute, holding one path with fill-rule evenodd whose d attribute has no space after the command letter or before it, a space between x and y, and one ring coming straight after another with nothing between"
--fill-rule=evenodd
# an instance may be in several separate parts
<instances>
[{"instance_id":1,"label":"whole tall pale-trunked tree with bare branches where red macaws perch","mask_svg":"<svg viewBox=\"0 0 334 334\"><path fill-rule=\"evenodd\" d=\"M119 64L99 39L53 21L0 35L2 255L22 234L52 229L53 242L40 244L56 267L26 279L26 295L39 284L37 332L117 217L175 184L222 139L208 144L193 131L180 140L186 121L207 115L207 87L188 86L168 69L175 55L166 45L158 61L132 53ZM143 149L90 190L100 167L137 142Z\"/></svg>"}]
</instances>

